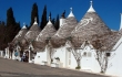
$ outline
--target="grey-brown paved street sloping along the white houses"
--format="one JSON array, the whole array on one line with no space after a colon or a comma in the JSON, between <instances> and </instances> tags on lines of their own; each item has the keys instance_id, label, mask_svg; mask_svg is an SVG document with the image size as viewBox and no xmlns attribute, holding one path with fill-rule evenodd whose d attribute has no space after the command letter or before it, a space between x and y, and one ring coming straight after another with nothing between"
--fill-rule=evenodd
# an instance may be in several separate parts
<instances>
[{"instance_id":1,"label":"grey-brown paved street sloping along the white houses","mask_svg":"<svg viewBox=\"0 0 122 77\"><path fill-rule=\"evenodd\" d=\"M106 77L0 58L0 77Z\"/></svg>"}]
</instances>

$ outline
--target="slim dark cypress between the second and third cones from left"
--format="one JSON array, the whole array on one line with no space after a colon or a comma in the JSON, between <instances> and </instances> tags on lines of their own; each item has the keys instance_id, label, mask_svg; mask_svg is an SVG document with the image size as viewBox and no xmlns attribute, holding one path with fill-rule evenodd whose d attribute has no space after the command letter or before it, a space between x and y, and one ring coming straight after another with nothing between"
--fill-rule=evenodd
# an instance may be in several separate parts
<instances>
[{"instance_id":1,"label":"slim dark cypress between the second and third cones from left","mask_svg":"<svg viewBox=\"0 0 122 77\"><path fill-rule=\"evenodd\" d=\"M44 6L44 9L43 9L40 28L43 30L45 25L47 25L47 6Z\"/></svg>"}]
</instances>

